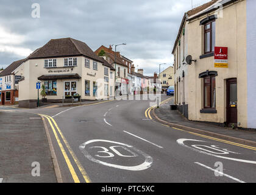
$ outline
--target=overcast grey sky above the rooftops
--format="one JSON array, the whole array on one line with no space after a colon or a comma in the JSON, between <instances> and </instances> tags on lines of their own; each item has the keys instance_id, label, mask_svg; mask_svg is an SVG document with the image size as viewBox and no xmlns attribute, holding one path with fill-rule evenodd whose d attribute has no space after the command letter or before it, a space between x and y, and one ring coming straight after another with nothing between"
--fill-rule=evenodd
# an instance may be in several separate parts
<instances>
[{"instance_id":1,"label":"overcast grey sky above the rooftops","mask_svg":"<svg viewBox=\"0 0 256 195\"><path fill-rule=\"evenodd\" d=\"M193 0L204 4L210 0ZM0 0L0 68L24 59L52 38L84 41L93 51L118 46L146 75L172 65L172 47L191 0ZM33 18L32 4L40 5ZM163 69L162 68L162 69Z\"/></svg>"}]
</instances>

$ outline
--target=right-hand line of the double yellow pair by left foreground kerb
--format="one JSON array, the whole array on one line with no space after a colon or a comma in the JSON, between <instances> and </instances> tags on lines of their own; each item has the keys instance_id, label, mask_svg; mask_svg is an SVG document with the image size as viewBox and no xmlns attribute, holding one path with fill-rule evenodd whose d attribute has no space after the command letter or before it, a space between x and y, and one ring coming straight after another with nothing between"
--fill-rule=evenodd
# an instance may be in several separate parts
<instances>
[{"instance_id":1,"label":"right-hand line of the double yellow pair by left foreground kerb","mask_svg":"<svg viewBox=\"0 0 256 195\"><path fill-rule=\"evenodd\" d=\"M73 157L73 159L74 159L74 161L75 161L77 167L79 168L79 170L80 170L82 176L84 177L85 182L91 183L91 180L90 180L90 178L88 177L87 172L85 171L85 169L84 169L83 166L81 165L81 163L80 163L80 161L78 160L76 154L74 154L73 150L72 150L71 147L69 146L69 143L68 143L68 141L66 140L66 138L64 137L62 131L61 131L60 128L59 128L59 126L57 126L57 123L55 122L55 120L54 120L51 116L49 116L49 118L51 118L51 119L52 119L52 122L54 122L54 125L55 125L55 127L57 128L58 132L60 133L60 136L62 137L62 140L63 140L64 143L66 144L66 147L68 148L69 153L70 153L71 156Z\"/></svg>"}]
</instances>

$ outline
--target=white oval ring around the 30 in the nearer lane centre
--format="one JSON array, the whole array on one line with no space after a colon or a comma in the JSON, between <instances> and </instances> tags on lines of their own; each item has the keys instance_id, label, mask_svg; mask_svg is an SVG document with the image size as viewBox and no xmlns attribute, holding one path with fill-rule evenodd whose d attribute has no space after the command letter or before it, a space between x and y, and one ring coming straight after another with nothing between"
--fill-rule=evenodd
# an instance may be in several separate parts
<instances>
[{"instance_id":1,"label":"white oval ring around the 30 in the nearer lane centre","mask_svg":"<svg viewBox=\"0 0 256 195\"><path fill-rule=\"evenodd\" d=\"M116 147L116 144L119 145L119 146L125 146L127 147L127 149L132 149L135 153L137 154L140 154L142 155L145 160L142 164L140 165L136 165L136 166L123 166L123 165L116 165L116 164L112 164L112 163L107 163L107 162L104 162L104 161L101 161L101 160L98 160L94 157L92 157L88 151L85 149L85 146L87 146L88 144L90 143L95 143L95 142L107 142L107 143L113 143L115 144L115 147ZM100 146L98 146L100 147ZM119 143L119 142L116 142L116 141L109 141L109 140L90 140L90 141L87 141L83 144L81 144L79 146L79 149L80 151L85 155L86 158L88 158L89 160L93 161L94 163L99 163L101 165L105 165L105 166L110 166L110 167L113 167L113 168L116 168L116 169L125 169L125 170L128 170L128 171L142 171L142 170L145 170L145 169L148 169L151 167L152 163L153 163L153 158L151 156L149 156L148 154L138 150L137 148L133 147L133 146L130 146L128 144L124 144L124 143ZM105 153L110 153L107 151L100 151L100 152L105 152ZM134 157L132 157L134 158Z\"/></svg>"}]
</instances>

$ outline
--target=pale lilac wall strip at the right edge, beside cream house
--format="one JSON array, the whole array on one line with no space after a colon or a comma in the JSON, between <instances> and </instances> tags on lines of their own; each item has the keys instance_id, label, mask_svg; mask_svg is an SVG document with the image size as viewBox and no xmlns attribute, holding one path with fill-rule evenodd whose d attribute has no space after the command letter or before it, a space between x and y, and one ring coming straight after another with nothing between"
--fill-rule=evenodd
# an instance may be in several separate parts
<instances>
[{"instance_id":1,"label":"pale lilac wall strip at the right edge, beside cream house","mask_svg":"<svg viewBox=\"0 0 256 195\"><path fill-rule=\"evenodd\" d=\"M256 128L256 1L246 1L247 26L247 124Z\"/></svg>"}]
</instances>

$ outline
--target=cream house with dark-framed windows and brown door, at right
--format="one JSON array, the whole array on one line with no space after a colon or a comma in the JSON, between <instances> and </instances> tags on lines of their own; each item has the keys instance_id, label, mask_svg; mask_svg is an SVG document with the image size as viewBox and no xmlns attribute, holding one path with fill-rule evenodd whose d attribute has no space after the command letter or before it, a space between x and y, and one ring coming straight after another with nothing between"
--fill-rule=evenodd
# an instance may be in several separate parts
<instances>
[{"instance_id":1,"label":"cream house with dark-framed windows and brown door, at right","mask_svg":"<svg viewBox=\"0 0 256 195\"><path fill-rule=\"evenodd\" d=\"M247 107L250 107L248 95L254 94L253 90L247 91L248 3L255 5L252 0L213 0L185 13L182 26L186 26L186 53L196 60L186 65L187 82L184 88L188 101L188 119L256 128L255 122L249 126L247 121ZM177 39L172 52L174 55L180 51L180 32ZM227 68L215 66L215 46L228 48ZM218 50L218 53L222 53L222 50ZM176 84L179 85L180 76L177 74L176 66ZM255 80L255 77L251 79ZM177 88L180 87L176 85L178 104L180 90Z\"/></svg>"}]
</instances>

